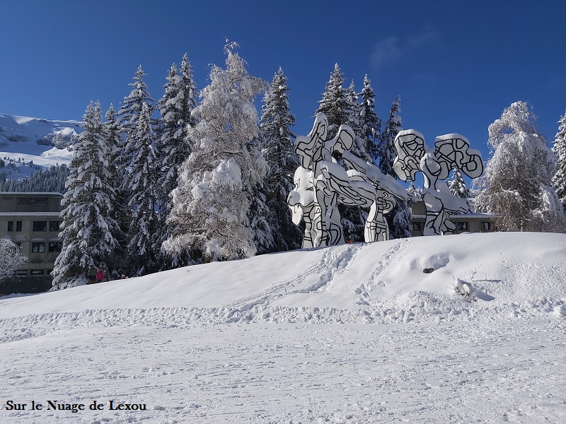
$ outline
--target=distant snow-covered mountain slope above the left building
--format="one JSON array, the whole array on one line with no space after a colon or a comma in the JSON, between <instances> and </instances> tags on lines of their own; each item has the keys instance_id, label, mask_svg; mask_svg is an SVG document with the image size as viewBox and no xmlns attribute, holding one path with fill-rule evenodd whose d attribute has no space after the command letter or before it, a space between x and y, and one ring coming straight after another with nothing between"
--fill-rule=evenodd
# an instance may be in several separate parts
<instances>
[{"instance_id":1,"label":"distant snow-covered mountain slope above the left building","mask_svg":"<svg viewBox=\"0 0 566 424\"><path fill-rule=\"evenodd\" d=\"M0 159L15 166L4 167L7 178L25 178L37 167L67 164L69 146L83 131L80 121L54 121L0 114ZM33 167L30 166L30 161Z\"/></svg>"}]
</instances>

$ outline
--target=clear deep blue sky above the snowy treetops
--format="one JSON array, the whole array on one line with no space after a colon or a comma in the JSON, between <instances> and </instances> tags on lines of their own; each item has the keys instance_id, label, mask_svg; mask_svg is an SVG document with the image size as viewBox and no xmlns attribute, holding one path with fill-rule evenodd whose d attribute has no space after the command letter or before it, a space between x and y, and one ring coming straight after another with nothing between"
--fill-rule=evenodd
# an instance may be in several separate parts
<instances>
[{"instance_id":1,"label":"clear deep blue sky above the snowy treetops","mask_svg":"<svg viewBox=\"0 0 566 424\"><path fill-rule=\"evenodd\" d=\"M386 119L401 96L405 129L428 143L461 133L487 159L487 126L516 100L553 141L566 110L566 1L3 1L0 113L81 119L129 93L141 64L154 99L187 52L198 88L224 64L226 37L252 75L289 78L296 134L306 134L337 63L368 74Z\"/></svg>"}]
</instances>

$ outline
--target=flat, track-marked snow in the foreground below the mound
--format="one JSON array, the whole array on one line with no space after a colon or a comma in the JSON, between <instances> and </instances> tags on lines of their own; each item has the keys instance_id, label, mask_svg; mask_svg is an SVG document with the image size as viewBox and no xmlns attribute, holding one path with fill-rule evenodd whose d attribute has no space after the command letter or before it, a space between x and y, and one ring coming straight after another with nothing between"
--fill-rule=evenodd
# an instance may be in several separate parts
<instances>
[{"instance_id":1,"label":"flat, track-marked snow in the foreground below the mound","mask_svg":"<svg viewBox=\"0 0 566 424\"><path fill-rule=\"evenodd\" d=\"M10 399L148 411L0 411L23 423L563 423L560 319L69 329L3 343ZM41 360L38 361L37 357Z\"/></svg>"}]
</instances>

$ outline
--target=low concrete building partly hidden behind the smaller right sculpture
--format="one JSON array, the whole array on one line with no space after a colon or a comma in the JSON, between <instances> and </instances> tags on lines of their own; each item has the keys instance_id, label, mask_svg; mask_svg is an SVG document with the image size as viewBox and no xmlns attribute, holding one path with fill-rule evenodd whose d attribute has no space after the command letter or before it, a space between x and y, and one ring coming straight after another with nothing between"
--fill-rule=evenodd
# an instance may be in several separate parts
<instances>
[{"instance_id":1,"label":"low concrete building partly hidden behind the smaller right sculpture","mask_svg":"<svg viewBox=\"0 0 566 424\"><path fill-rule=\"evenodd\" d=\"M411 207L411 234L414 237L421 236L424 222L427 218L427 208L424 201L416 201ZM456 224L454 234L461 232L493 232L496 230L492 222L491 213L459 213L451 216L452 222Z\"/></svg>"}]
</instances>

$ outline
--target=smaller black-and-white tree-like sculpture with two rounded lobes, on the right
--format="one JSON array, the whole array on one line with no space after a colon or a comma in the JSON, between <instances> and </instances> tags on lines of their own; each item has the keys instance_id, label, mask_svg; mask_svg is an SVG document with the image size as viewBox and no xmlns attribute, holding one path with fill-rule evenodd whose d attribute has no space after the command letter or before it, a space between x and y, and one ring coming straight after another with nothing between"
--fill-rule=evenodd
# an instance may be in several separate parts
<instances>
[{"instance_id":1,"label":"smaller black-and-white tree-like sculpture with two rounded lobes, on the right","mask_svg":"<svg viewBox=\"0 0 566 424\"><path fill-rule=\"evenodd\" d=\"M417 172L424 176L422 199L427 208L423 235L452 234L456 225L450 216L469 212L466 201L454 196L443 179L448 178L453 167L470 178L483 173L483 161L478 150L470 148L470 142L460 134L446 134L434 140L434 151L425 143L419 131L400 131L395 137L398 156L393 170L403 181L415 181Z\"/></svg>"}]
</instances>

